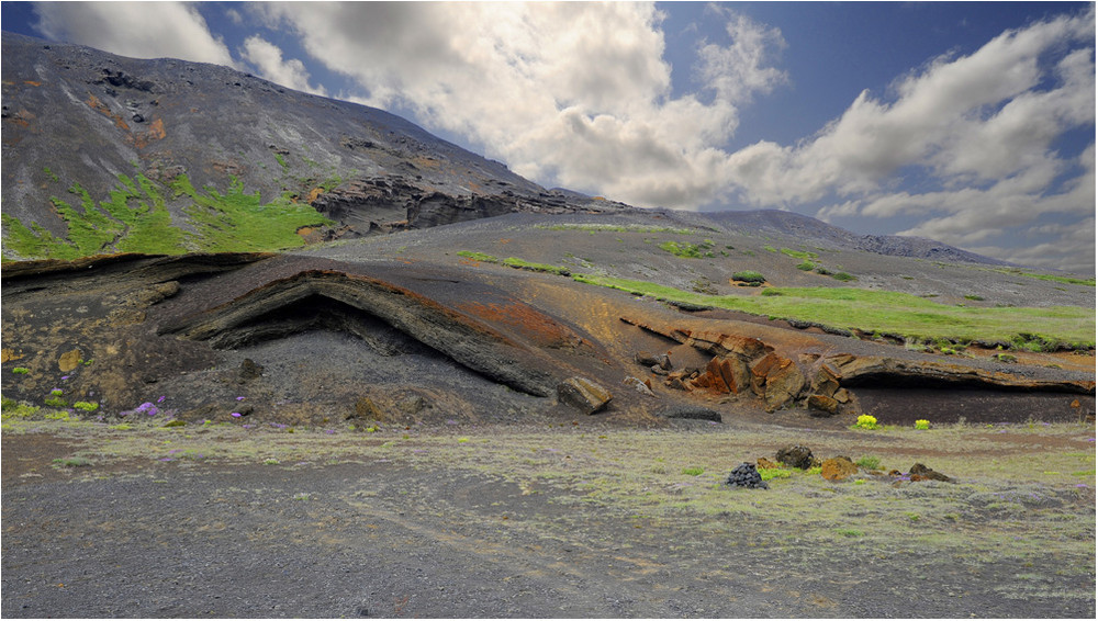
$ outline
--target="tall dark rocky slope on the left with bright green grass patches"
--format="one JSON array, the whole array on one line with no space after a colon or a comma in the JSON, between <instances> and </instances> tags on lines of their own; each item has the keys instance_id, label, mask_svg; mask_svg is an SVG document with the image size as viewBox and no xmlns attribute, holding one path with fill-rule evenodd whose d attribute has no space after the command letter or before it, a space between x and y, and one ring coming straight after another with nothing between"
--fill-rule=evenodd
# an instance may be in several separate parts
<instances>
[{"instance_id":1,"label":"tall dark rocky slope on the left with bright green grass patches","mask_svg":"<svg viewBox=\"0 0 1098 621\"><path fill-rule=\"evenodd\" d=\"M226 67L2 41L5 258L270 249L620 207L547 191L381 110Z\"/></svg>"}]
</instances>

